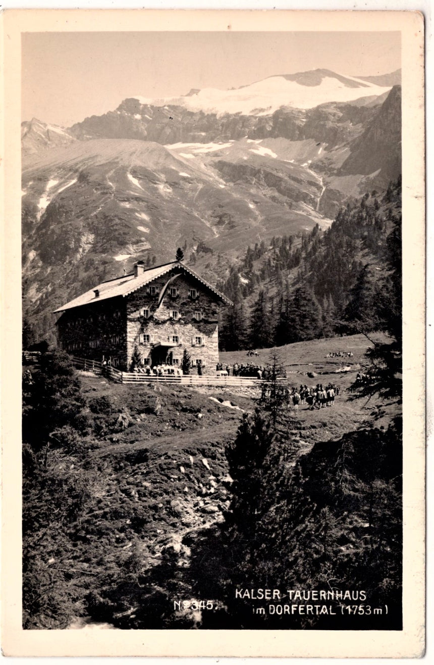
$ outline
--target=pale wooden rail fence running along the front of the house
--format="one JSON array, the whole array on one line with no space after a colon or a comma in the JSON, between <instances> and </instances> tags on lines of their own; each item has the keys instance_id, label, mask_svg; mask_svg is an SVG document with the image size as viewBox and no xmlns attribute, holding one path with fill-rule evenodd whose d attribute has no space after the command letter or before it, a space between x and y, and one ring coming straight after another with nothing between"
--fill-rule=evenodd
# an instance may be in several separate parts
<instances>
[{"instance_id":1,"label":"pale wooden rail fence running along the front of the house","mask_svg":"<svg viewBox=\"0 0 434 665\"><path fill-rule=\"evenodd\" d=\"M122 372L114 367L102 366L97 360L86 360L84 358L72 358L77 369L85 372L94 372L99 376L106 376L116 383L160 383L177 384L179 386L221 386L223 388L258 388L264 381L252 376L198 376L197 374L184 374L175 376L155 376L154 374L140 374L138 372ZM278 378L278 382L286 385L286 378Z\"/></svg>"}]
</instances>

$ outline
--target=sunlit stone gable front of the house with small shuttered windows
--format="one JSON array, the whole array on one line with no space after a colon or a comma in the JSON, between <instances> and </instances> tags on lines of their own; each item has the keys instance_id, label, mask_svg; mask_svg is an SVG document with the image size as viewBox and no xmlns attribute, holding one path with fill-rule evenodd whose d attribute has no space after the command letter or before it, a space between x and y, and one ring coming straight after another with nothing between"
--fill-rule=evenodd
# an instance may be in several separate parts
<instances>
[{"instance_id":1,"label":"sunlit stone gable front of the house with small shuttered windows","mask_svg":"<svg viewBox=\"0 0 434 665\"><path fill-rule=\"evenodd\" d=\"M186 348L193 363L200 359L202 361L203 374L214 374L216 364L219 360L219 333L217 327L217 315L221 305L206 289L201 289L200 283L187 275L179 275L171 282L171 286L179 291L179 295L172 297L169 289L165 292L162 304L158 307L158 301L162 289L167 283L170 275L156 279L150 286L157 287L158 293L151 295L147 293L146 287L130 294L127 298L127 356L128 368L130 367L132 355L138 348L144 362L154 362L156 342L167 342L169 336L178 335L181 343L167 348L167 354L171 353L173 360L181 364L183 351ZM192 299L188 295L189 289L196 289L198 297ZM149 309L151 316L146 319L140 316L140 309ZM179 311L181 319L174 320L170 317L171 311ZM200 311L203 315L201 321L193 318L193 313ZM150 334L151 342L140 342L140 334ZM202 345L195 344L195 337L203 339ZM193 373L197 367L193 366Z\"/></svg>"}]
</instances>

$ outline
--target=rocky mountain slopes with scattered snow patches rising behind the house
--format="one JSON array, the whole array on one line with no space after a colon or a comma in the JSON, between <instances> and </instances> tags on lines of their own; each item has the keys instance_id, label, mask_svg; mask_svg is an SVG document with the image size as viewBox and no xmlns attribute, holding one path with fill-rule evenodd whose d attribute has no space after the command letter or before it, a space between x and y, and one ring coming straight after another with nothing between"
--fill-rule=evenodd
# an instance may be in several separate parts
<instances>
[{"instance_id":1,"label":"rocky mountain slopes with scattered snow patches rising behind the house","mask_svg":"<svg viewBox=\"0 0 434 665\"><path fill-rule=\"evenodd\" d=\"M23 309L41 334L60 303L138 259L183 246L215 282L247 245L328 227L348 199L387 187L401 172L401 88L330 74L253 84L298 86L323 100L312 108L219 115L128 98L69 129L23 123ZM330 80L355 99L313 95Z\"/></svg>"}]
</instances>

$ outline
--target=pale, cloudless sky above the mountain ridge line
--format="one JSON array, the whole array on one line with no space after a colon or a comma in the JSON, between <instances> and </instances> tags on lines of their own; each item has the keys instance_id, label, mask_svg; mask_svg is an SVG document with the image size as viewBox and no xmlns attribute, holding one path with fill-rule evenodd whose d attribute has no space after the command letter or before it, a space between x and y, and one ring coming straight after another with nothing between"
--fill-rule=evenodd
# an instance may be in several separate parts
<instances>
[{"instance_id":1,"label":"pale, cloudless sky above the mountain ridge line","mask_svg":"<svg viewBox=\"0 0 434 665\"><path fill-rule=\"evenodd\" d=\"M227 90L326 68L373 76L401 66L400 33L23 33L21 119L64 127L128 97Z\"/></svg>"}]
</instances>

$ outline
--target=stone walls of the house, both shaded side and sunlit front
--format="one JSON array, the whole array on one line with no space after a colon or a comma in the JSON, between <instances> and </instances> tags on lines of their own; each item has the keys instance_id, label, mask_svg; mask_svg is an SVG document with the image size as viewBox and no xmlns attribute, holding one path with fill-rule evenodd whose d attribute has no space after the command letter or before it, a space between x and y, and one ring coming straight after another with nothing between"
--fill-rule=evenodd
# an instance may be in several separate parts
<instances>
[{"instance_id":1,"label":"stone walls of the house, both shaded side and sunlit front","mask_svg":"<svg viewBox=\"0 0 434 665\"><path fill-rule=\"evenodd\" d=\"M123 370L130 369L136 349L152 366L180 366L187 349L192 373L201 364L203 374L215 374L222 306L207 285L175 266L124 297L66 310L57 322L58 342L72 355L111 358Z\"/></svg>"}]
</instances>

